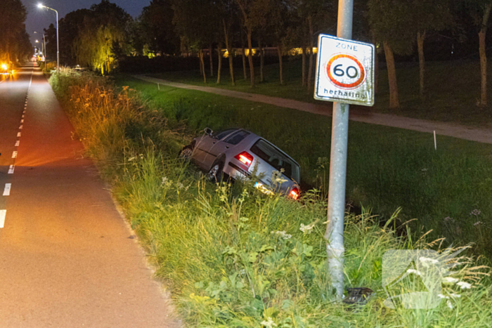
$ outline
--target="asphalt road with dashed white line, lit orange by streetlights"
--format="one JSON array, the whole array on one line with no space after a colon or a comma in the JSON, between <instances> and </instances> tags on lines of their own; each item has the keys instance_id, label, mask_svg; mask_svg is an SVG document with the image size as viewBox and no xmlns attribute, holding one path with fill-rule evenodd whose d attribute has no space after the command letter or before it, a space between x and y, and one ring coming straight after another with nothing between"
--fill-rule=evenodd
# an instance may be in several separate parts
<instances>
[{"instance_id":1,"label":"asphalt road with dashed white line, lit orange by streetlights","mask_svg":"<svg viewBox=\"0 0 492 328\"><path fill-rule=\"evenodd\" d=\"M72 132L32 65L0 82L0 327L178 327Z\"/></svg>"}]
</instances>

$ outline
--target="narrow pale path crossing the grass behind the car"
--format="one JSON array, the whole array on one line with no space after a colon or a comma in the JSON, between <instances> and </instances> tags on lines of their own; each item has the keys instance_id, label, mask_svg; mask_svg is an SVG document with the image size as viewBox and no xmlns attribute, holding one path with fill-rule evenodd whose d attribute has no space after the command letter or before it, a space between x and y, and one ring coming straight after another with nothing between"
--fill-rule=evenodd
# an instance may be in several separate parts
<instances>
[{"instance_id":1,"label":"narrow pale path crossing the grass behind the car","mask_svg":"<svg viewBox=\"0 0 492 328\"><path fill-rule=\"evenodd\" d=\"M167 81L164 79L157 79L155 77L147 77L145 75L133 75L133 77L135 77L136 79L141 79L143 81L148 81L155 84L159 83L162 84L163 86L172 86L174 88L186 88L189 90L214 93L220 96L251 100L257 103L265 103L268 105L275 105L278 107L291 108L292 110L302 110L303 112L310 112L313 114L321 114L325 116L332 115L331 105L304 103L298 100L264 96L264 95L259 95L257 93L233 91L224 88L214 88L211 86L193 86L191 84L183 84L179 82ZM391 114L381 114L381 113L369 112L366 110L360 110L354 107L351 107L350 109L349 118L351 121L364 122L369 124L378 124L384 126L392 126L394 128L407 129L407 130L413 130L419 132L434 133L434 131L436 131L436 134L441 136L449 136L449 137L461 138L465 140L478 141L479 143L492 144L492 129L476 128L476 127L465 126L457 123L429 121L425 119L413 119L410 117L401 117Z\"/></svg>"}]
</instances>

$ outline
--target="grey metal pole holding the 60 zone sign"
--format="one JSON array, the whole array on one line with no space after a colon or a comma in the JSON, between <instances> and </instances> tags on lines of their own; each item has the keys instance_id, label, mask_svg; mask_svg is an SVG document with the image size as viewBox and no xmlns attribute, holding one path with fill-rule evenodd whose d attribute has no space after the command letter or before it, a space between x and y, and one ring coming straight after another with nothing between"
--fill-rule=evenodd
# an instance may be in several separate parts
<instances>
[{"instance_id":1,"label":"grey metal pole holding the 60 zone sign","mask_svg":"<svg viewBox=\"0 0 492 328\"><path fill-rule=\"evenodd\" d=\"M337 37L351 39L353 0L339 0ZM328 190L328 225L325 238L328 272L338 299L344 292L344 214L347 175L347 140L349 138L349 104L333 103L330 184Z\"/></svg>"}]
</instances>

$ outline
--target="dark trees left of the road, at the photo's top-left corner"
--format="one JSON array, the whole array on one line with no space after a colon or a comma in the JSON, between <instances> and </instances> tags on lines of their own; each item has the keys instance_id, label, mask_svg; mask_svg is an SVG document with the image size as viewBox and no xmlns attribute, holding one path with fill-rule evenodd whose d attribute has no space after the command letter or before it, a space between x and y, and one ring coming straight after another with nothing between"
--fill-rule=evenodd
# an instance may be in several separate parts
<instances>
[{"instance_id":1,"label":"dark trees left of the road, at the photo's top-left corner","mask_svg":"<svg viewBox=\"0 0 492 328\"><path fill-rule=\"evenodd\" d=\"M25 30L27 11L20 0L2 0L0 4L0 62L27 60L33 48Z\"/></svg>"}]
</instances>

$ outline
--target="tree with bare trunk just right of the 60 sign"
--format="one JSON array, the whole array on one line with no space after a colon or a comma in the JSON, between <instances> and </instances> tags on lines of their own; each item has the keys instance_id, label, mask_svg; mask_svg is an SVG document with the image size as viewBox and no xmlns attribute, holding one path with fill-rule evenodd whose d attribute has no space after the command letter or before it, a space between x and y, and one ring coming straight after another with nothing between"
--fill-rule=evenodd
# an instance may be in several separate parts
<instances>
[{"instance_id":1,"label":"tree with bare trunk just right of the 60 sign","mask_svg":"<svg viewBox=\"0 0 492 328\"><path fill-rule=\"evenodd\" d=\"M414 35L411 25L412 6L407 0L369 0L369 24L378 41L382 41L389 81L389 108L400 107L394 53L412 51Z\"/></svg>"}]
</instances>

